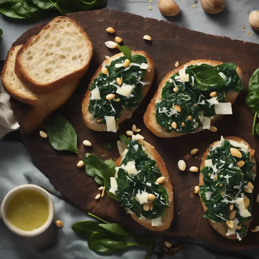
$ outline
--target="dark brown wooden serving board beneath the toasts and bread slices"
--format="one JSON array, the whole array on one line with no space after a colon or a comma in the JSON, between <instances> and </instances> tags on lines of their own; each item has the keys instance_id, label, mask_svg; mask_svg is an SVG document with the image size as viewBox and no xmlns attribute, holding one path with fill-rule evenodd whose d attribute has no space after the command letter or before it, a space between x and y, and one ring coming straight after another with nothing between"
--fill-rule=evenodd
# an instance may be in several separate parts
<instances>
[{"instance_id":1,"label":"dark brown wooden serving board beneath the toasts and bread slices","mask_svg":"<svg viewBox=\"0 0 259 259\"><path fill-rule=\"evenodd\" d=\"M59 152L54 150L48 139L42 139L39 130L45 130L44 124L33 133L23 135L22 139L27 145L34 164L46 174L57 190L60 190L67 199L82 208L100 217L121 223L127 222L127 226L142 228L141 225L131 219L125 213L123 207L116 201L107 197L100 201L95 200L99 193L98 186L92 178L85 174L84 168L77 168L76 163L83 159L85 153L90 152L102 159L115 159L119 157L117 148L107 152L103 150L103 144L107 141L116 141L120 134L131 129L132 124L141 128L141 134L145 140L157 149L166 163L173 190L174 190L174 219L171 227L164 233L171 236L190 237L207 240L227 248L251 249L259 247L258 233L248 231L247 237L242 241L230 240L217 233L204 219L203 209L199 196L194 193L194 186L199 183L199 173L179 171L177 162L184 159L184 155L190 153L192 148L199 148L198 158L203 155L208 145L220 139L220 136L238 136L246 140L256 150L256 159L259 161L259 138L251 134L253 114L245 104L247 85L254 70L259 66L259 45L232 40L226 37L208 35L201 32L188 30L165 21L132 15L116 10L96 10L67 15L78 21L87 31L93 42L94 55L89 71L69 99L57 114L62 114L73 125L78 136L78 155L72 152ZM23 44L32 35L38 33L45 24L39 24L25 32L14 45ZM113 27L116 34L105 31L107 27ZM143 35L150 35L152 42L143 40ZM87 90L91 76L105 59L105 55L112 56L118 53L118 49L109 49L104 45L105 41L114 40L119 36L124 44L132 50L146 51L155 64L155 79L149 93L140 107L133 113L131 119L120 124L119 132L95 132L88 129L82 120L81 103ZM233 115L225 115L215 126L218 131L213 133L204 130L196 134L188 134L179 138L163 139L153 135L143 123L143 114L150 99L153 97L163 77L175 68L175 62L187 63L196 59L211 59L223 62L234 62L243 71L243 83L246 90L240 93L233 105ZM12 107L17 119L22 125L21 115L26 114L25 105L12 99ZM90 140L92 147L84 147L83 140ZM200 160L192 156L186 161L187 168L200 166ZM258 177L256 178L256 180ZM257 181L258 182L258 181ZM255 198L258 187L255 187ZM254 199L255 201L255 199ZM259 204L253 205L252 225L259 225ZM143 228L142 228L143 229Z\"/></svg>"}]
</instances>

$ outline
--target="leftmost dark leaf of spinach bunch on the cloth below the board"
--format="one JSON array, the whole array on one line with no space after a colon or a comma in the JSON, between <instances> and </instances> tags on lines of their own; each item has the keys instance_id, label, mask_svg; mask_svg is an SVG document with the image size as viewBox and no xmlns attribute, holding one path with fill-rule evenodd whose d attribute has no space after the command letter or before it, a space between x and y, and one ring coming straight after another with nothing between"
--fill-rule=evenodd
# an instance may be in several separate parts
<instances>
[{"instance_id":1,"label":"leftmost dark leaf of spinach bunch on the cloth below the board","mask_svg":"<svg viewBox=\"0 0 259 259\"><path fill-rule=\"evenodd\" d=\"M93 232L107 233L104 228L99 227L99 222L93 220L78 221L72 226L73 231L90 238Z\"/></svg>"}]
</instances>

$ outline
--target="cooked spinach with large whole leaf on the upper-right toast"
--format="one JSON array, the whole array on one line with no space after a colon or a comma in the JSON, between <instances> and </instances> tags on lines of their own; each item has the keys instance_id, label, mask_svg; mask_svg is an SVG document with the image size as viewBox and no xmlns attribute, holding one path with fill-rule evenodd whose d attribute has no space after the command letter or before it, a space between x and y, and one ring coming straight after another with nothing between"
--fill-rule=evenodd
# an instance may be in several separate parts
<instances>
[{"instance_id":1,"label":"cooked spinach with large whole leaf on the upper-right toast","mask_svg":"<svg viewBox=\"0 0 259 259\"><path fill-rule=\"evenodd\" d=\"M229 90L241 92L244 88L234 63L215 67L207 64L190 65L186 67L185 73L189 74L189 82L179 82L179 73L172 75L162 89L161 102L156 103L157 123L167 132L193 132L201 126L203 117L215 114L214 105L206 101L211 99L211 92L217 92L217 101L224 103L225 94ZM178 91L175 92L174 88ZM181 112L174 109L175 105L181 107ZM188 116L191 116L190 120ZM173 122L177 128L171 126Z\"/></svg>"}]
</instances>

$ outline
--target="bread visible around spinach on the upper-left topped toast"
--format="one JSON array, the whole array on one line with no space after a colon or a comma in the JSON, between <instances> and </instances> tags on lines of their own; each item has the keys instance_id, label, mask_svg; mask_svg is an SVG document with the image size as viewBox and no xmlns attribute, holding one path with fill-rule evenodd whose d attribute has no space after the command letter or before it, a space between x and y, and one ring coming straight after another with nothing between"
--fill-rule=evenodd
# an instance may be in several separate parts
<instances>
[{"instance_id":1,"label":"bread visible around spinach on the upper-left topped toast","mask_svg":"<svg viewBox=\"0 0 259 259\"><path fill-rule=\"evenodd\" d=\"M96 70L95 74L92 76L91 83L93 83L93 80L100 74L103 67L105 67L106 65L109 66L111 64L112 60L118 59L122 55L123 55L123 53L121 52L121 53L118 53L118 54L106 59ZM144 85L141 90L141 92L143 93L143 98L144 98L154 80L154 74L155 74L154 63L153 63L153 60L151 59L151 57L144 51L132 51L132 55L142 55L142 56L146 57L146 59L147 59L148 68L146 70L146 74L144 76L143 81L145 81L145 82L149 81L150 84ZM89 87L90 87L91 83L89 84ZM86 126L88 128L90 128L92 130L106 131L107 130L106 124L97 123L96 119L93 119L92 114L88 111L88 106L90 103L90 94L91 94L89 91L89 87L87 89L87 92L85 93L85 96L84 96L84 99L82 102L82 115L83 115L84 123L86 124ZM143 98L140 100L140 102L142 102ZM134 107L133 110L125 109L125 110L121 111L121 116L120 116L119 120L116 121L116 125L120 124L121 122L123 122L126 119L131 118L132 113L135 109L137 109L137 107Z\"/></svg>"}]
</instances>

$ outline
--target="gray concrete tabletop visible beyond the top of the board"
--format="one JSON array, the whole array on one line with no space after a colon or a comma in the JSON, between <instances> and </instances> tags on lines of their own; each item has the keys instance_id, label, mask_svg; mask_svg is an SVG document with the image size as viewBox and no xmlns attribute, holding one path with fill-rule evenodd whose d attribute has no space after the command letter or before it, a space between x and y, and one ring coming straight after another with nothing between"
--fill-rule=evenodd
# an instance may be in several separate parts
<instances>
[{"instance_id":1,"label":"gray concrete tabletop visible beyond the top of the board","mask_svg":"<svg viewBox=\"0 0 259 259\"><path fill-rule=\"evenodd\" d=\"M180 13L175 17L161 15L158 9L158 0L107 0L106 8L117 9L141 15L144 17L166 20L186 28L209 34L226 36L250 42L259 42L259 31L250 28L248 16L253 10L259 10L259 0L225 0L225 9L215 15L205 13L200 6L192 7L193 0L175 0L180 7ZM152 7L149 10L149 6ZM39 21L50 19L45 19ZM28 28L34 24L28 24L21 20L7 19L0 15L0 28L3 30L0 43L0 60L4 60L12 43ZM242 28L245 26L245 29ZM248 35L250 31L253 35Z\"/></svg>"}]
</instances>

